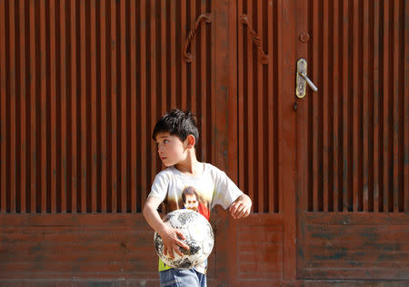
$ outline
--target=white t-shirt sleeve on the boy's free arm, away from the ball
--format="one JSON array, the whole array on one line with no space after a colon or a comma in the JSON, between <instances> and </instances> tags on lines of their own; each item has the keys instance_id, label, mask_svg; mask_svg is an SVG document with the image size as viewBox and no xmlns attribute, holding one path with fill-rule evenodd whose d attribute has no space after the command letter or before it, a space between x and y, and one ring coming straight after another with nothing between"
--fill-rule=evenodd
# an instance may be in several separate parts
<instances>
[{"instance_id":1,"label":"white t-shirt sleeve on the boy's free arm, away from the ball","mask_svg":"<svg viewBox=\"0 0 409 287\"><path fill-rule=\"evenodd\" d=\"M214 169L214 196L212 208L216 204L222 205L227 209L230 204L242 195L243 192L235 185L235 183L224 172Z\"/></svg>"}]
</instances>

